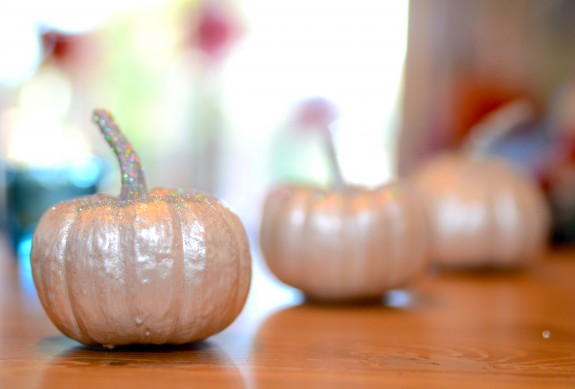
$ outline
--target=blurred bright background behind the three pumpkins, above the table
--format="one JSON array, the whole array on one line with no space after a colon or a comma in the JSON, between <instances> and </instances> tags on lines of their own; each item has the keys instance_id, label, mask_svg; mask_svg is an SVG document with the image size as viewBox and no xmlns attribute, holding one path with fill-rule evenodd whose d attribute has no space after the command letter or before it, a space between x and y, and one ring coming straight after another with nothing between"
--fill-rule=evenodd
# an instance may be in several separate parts
<instances>
[{"instance_id":1,"label":"blurred bright background behind the three pumpkins, above the table","mask_svg":"<svg viewBox=\"0 0 575 389\"><path fill-rule=\"evenodd\" d=\"M489 151L538 182L553 239L571 242L574 46L568 0L2 1L0 225L25 252L50 204L119 193L95 107L114 114L150 187L222 197L253 238L270 185L329 184L306 122L322 101L337 107L346 180L376 186L521 99L529 120Z\"/></svg>"}]
</instances>

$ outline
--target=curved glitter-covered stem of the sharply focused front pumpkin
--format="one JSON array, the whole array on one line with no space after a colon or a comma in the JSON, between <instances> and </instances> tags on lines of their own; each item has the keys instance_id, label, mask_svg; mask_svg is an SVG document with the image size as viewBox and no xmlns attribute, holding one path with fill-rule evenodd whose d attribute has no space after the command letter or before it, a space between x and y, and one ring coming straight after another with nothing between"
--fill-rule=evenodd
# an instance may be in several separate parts
<instances>
[{"instance_id":1,"label":"curved glitter-covered stem of the sharply focused front pumpkin","mask_svg":"<svg viewBox=\"0 0 575 389\"><path fill-rule=\"evenodd\" d=\"M106 110L95 109L92 120L100 127L106 142L112 147L118 158L122 175L120 200L134 200L145 196L148 189L140 158L118 128L112 115Z\"/></svg>"}]
</instances>

